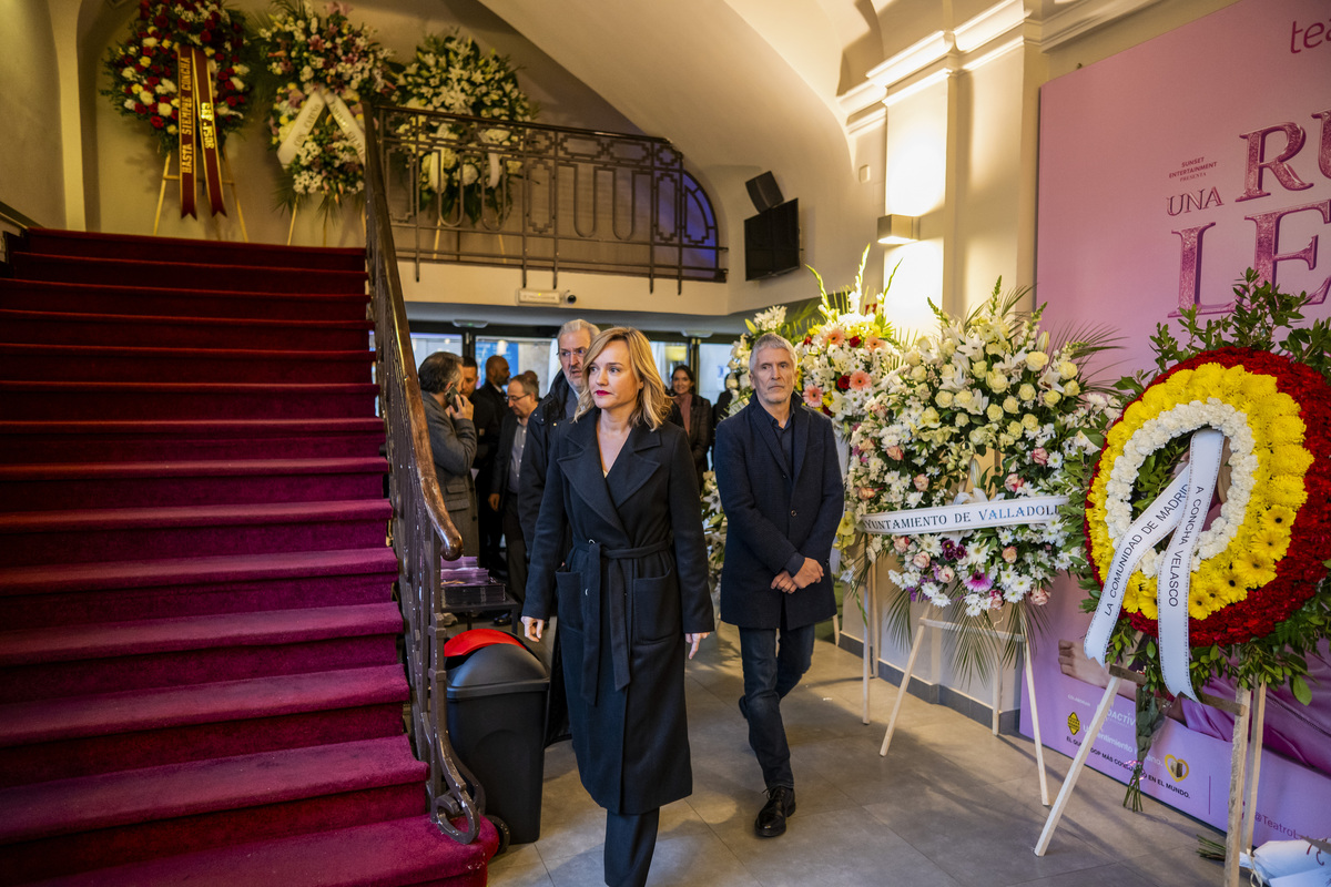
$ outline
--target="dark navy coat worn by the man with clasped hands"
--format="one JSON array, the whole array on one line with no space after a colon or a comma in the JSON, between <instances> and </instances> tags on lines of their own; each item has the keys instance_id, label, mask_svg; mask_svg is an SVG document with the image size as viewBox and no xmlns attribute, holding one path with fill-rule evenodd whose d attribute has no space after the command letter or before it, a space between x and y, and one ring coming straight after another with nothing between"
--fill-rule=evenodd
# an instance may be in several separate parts
<instances>
[{"instance_id":1,"label":"dark navy coat worn by the man with clasped hands","mask_svg":"<svg viewBox=\"0 0 1331 887\"><path fill-rule=\"evenodd\" d=\"M845 509L832 422L791 407L793 477L785 471L772 416L755 396L716 427L716 483L725 511L721 620L740 628L800 628L836 616L828 559ZM823 578L793 593L772 580L796 555L823 565Z\"/></svg>"}]
</instances>

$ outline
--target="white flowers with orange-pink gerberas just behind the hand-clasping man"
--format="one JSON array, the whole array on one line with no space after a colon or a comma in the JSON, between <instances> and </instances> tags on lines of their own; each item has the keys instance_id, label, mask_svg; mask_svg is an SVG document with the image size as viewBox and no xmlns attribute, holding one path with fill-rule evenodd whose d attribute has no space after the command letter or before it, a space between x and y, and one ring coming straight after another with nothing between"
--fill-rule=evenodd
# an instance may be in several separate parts
<instances>
[{"instance_id":1,"label":"white flowers with orange-pink gerberas just behind the hand-clasping man","mask_svg":"<svg viewBox=\"0 0 1331 887\"><path fill-rule=\"evenodd\" d=\"M864 262L855 289L829 295L823 278L813 271L823 297L819 311L821 320L804 339L796 342L800 370L804 374L804 403L832 418L843 439L848 439L853 426L864 416L864 408L876 386L896 366L898 351L892 324L882 317L882 295L892 286L888 279L882 294L865 306Z\"/></svg>"}]
</instances>

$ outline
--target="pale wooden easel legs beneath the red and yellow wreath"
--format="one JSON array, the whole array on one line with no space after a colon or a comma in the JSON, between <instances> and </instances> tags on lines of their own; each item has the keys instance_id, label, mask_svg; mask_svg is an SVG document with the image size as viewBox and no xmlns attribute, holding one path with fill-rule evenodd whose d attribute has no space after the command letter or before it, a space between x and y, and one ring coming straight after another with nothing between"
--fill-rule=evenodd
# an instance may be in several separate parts
<instances>
[{"instance_id":1,"label":"pale wooden easel legs beneath the red and yellow wreath","mask_svg":"<svg viewBox=\"0 0 1331 887\"><path fill-rule=\"evenodd\" d=\"M1044 856L1045 851L1049 850L1049 842L1054 836L1058 821L1062 819L1073 790L1077 787L1077 779L1081 777L1082 767L1086 766L1086 759L1090 757L1090 749L1099 737L1101 727L1105 726L1105 718L1114 705L1114 697L1118 696L1118 686L1123 681L1131 681L1133 684L1145 682L1141 674L1121 665L1111 665L1109 676L1109 684L1105 686L1105 694L1095 707L1095 717L1091 718L1090 727L1086 730L1086 738L1082 741L1081 749L1077 750L1077 757L1067 771L1067 778L1058 791L1058 799L1054 802L1053 810L1049 811L1044 831L1040 832L1040 840L1036 843L1037 856ZM1235 689L1233 701L1222 699L1210 693L1199 693L1198 696L1203 703L1213 709L1221 709L1234 715L1234 746L1230 754L1229 827L1225 836L1225 887L1239 887L1239 856L1243 851L1252 850L1252 830L1256 821L1256 786L1262 767L1262 729L1266 721L1266 684L1258 684L1256 688L1255 718L1250 717L1252 690L1247 688L1240 686ZM1252 734L1251 754L1248 753L1250 733ZM1251 781L1247 779L1250 767L1252 773ZM1247 787L1246 810L1244 783Z\"/></svg>"}]
</instances>

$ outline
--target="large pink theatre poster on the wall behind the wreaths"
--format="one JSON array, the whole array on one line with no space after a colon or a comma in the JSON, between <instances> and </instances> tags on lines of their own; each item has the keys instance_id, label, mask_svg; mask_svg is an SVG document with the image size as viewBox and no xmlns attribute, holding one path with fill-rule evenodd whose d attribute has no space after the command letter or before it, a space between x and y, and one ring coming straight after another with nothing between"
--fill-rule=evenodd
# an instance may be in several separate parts
<instances>
[{"instance_id":1,"label":"large pink theatre poster on the wall behind the wreaths","mask_svg":"<svg viewBox=\"0 0 1331 887\"><path fill-rule=\"evenodd\" d=\"M1326 0L1244 0L1041 92L1036 291L1050 328L1122 336L1102 379L1149 368L1149 336L1181 307L1227 311L1247 267L1312 294L1310 318L1331 317ZM1071 755L1103 677L1079 656L1082 593L1057 590L1036 688L1045 742ZM1314 684L1312 706L1268 711L1258 842L1331 827L1331 666L1316 668L1328 680ZM1145 790L1223 828L1231 727L1211 711L1179 717L1147 759ZM1026 706L1021 729L1030 735ZM1090 763L1126 781L1135 757L1133 702L1119 698Z\"/></svg>"}]
</instances>

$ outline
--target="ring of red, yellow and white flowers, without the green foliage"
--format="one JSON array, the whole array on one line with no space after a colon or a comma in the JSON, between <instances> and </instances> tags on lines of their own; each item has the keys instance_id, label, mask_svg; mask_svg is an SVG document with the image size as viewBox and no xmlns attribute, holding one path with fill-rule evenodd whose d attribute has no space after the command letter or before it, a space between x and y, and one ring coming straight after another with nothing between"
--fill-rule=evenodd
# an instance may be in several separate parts
<instances>
[{"instance_id":1,"label":"ring of red, yellow and white flowers, without the green foliage","mask_svg":"<svg viewBox=\"0 0 1331 887\"><path fill-rule=\"evenodd\" d=\"M1109 428L1087 493L1086 552L1103 582L1118 537L1154 495L1138 488L1142 461L1202 426L1226 432L1231 484L1193 563L1189 638L1242 644L1270 634L1327 573L1331 386L1314 370L1270 351L1219 348L1158 376ZM1123 594L1123 616L1153 637L1154 573L1149 555Z\"/></svg>"}]
</instances>

